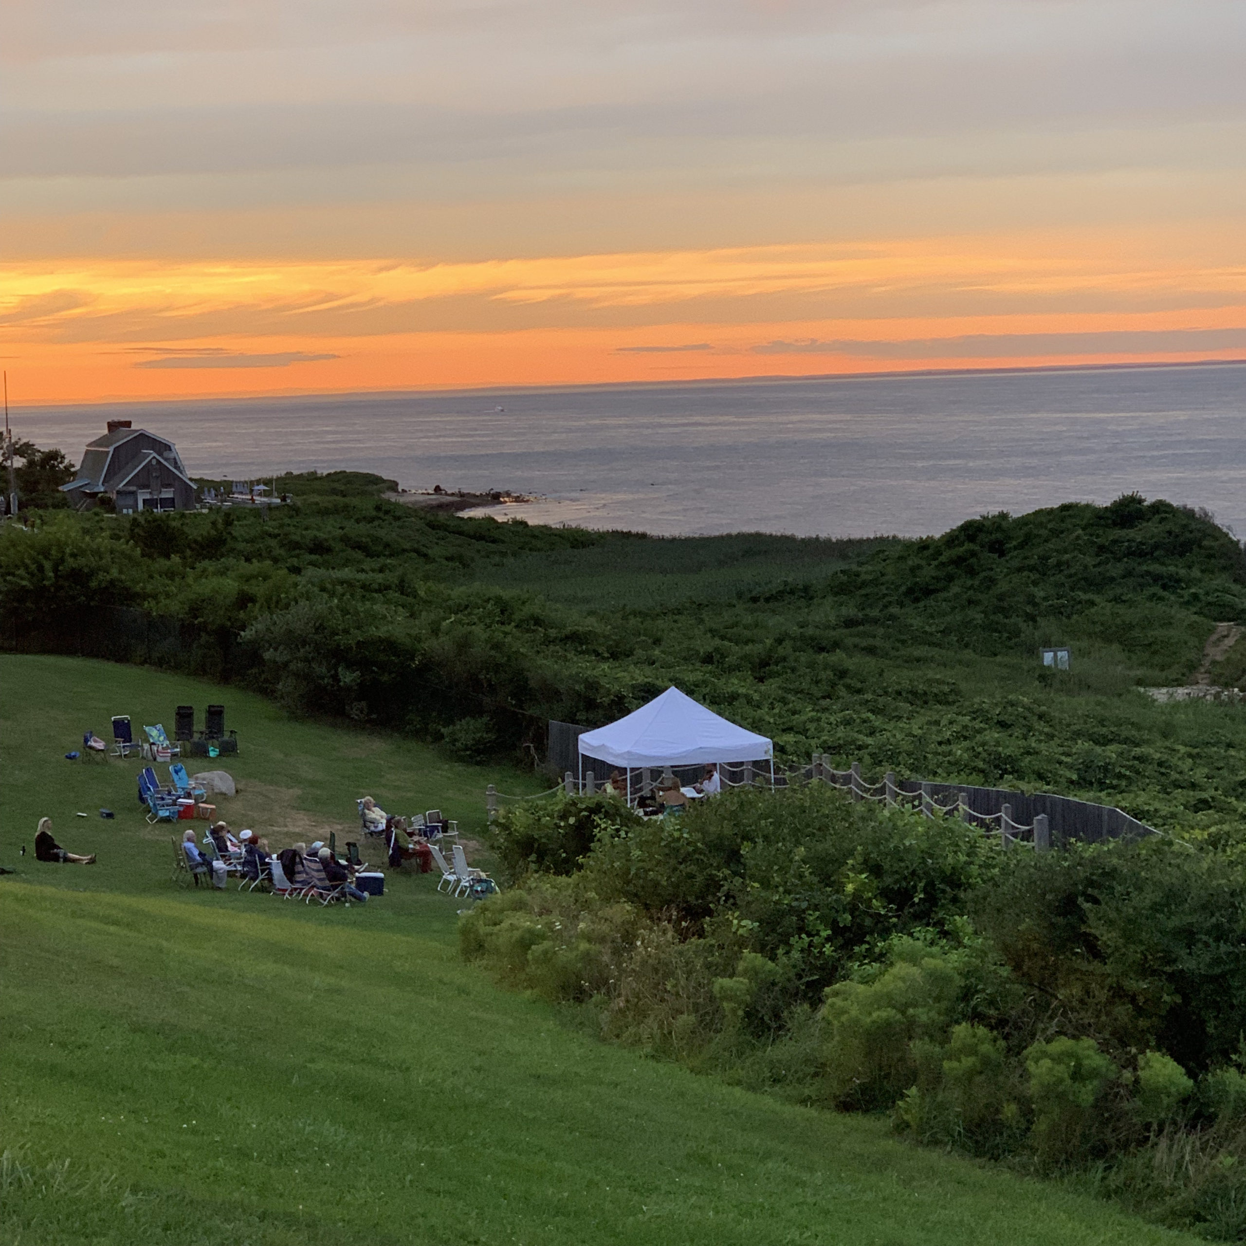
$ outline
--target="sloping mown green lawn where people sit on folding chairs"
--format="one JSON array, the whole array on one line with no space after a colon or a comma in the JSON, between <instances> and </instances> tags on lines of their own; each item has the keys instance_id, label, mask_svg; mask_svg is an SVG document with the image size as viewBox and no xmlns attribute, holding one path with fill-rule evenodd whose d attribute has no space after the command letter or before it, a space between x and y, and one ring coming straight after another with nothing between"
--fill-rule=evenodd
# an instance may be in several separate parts
<instances>
[{"instance_id":1,"label":"sloping mown green lawn where people sit on folding chairs","mask_svg":"<svg viewBox=\"0 0 1246 1246\"><path fill-rule=\"evenodd\" d=\"M179 890L138 763L62 754L111 713L168 725L219 699L242 740L222 812L274 842L340 840L364 791L478 834L486 782L537 780L106 663L2 657L0 692L0 863L20 870L0 878L0 1242L1192 1241L568 1029L459 959L434 877L349 910ZM44 814L100 865L19 857Z\"/></svg>"}]
</instances>

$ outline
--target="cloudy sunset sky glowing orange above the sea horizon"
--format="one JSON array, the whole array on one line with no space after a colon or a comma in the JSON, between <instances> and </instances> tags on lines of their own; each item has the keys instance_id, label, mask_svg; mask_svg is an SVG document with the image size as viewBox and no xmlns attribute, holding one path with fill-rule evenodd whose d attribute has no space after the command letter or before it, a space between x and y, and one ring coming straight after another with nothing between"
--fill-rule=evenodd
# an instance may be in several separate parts
<instances>
[{"instance_id":1,"label":"cloudy sunset sky glowing orange above the sea horizon","mask_svg":"<svg viewBox=\"0 0 1246 1246\"><path fill-rule=\"evenodd\" d=\"M1246 359L1241 0L47 0L24 405Z\"/></svg>"}]
</instances>

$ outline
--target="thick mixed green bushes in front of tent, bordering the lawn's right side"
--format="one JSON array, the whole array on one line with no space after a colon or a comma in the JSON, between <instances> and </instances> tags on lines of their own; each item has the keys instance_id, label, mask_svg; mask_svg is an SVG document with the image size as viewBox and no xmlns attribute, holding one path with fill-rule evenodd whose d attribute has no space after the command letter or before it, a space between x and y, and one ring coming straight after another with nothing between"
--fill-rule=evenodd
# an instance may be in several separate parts
<instances>
[{"instance_id":1,"label":"thick mixed green bushes in front of tent, bordering the lawn's right side","mask_svg":"<svg viewBox=\"0 0 1246 1246\"><path fill-rule=\"evenodd\" d=\"M1231 856L1158 837L1004 854L821 786L653 820L535 802L497 844L518 886L465 915L464 953L603 1037L887 1113L927 1144L1098 1174L1174 1225L1246 1229Z\"/></svg>"}]
</instances>

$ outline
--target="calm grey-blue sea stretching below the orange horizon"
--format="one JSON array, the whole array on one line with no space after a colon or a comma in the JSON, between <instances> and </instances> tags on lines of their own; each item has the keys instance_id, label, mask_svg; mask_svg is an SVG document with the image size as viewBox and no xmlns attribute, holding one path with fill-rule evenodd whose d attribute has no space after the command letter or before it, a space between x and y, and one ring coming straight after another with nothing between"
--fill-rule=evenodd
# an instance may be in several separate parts
<instances>
[{"instance_id":1,"label":"calm grey-blue sea stretching below the orange horizon","mask_svg":"<svg viewBox=\"0 0 1246 1246\"><path fill-rule=\"evenodd\" d=\"M662 535L918 536L1123 492L1246 536L1246 366L16 409L78 461L105 420L172 437L192 475L353 468L406 488L538 495L500 517Z\"/></svg>"}]
</instances>

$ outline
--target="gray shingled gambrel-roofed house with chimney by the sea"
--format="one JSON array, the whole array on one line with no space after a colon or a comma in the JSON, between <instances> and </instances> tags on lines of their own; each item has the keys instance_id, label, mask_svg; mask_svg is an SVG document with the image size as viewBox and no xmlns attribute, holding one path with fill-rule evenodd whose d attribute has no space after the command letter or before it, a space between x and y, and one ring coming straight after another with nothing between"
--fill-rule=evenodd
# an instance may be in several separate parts
<instances>
[{"instance_id":1,"label":"gray shingled gambrel-roofed house with chimney by the sea","mask_svg":"<svg viewBox=\"0 0 1246 1246\"><path fill-rule=\"evenodd\" d=\"M193 511L194 482L177 446L130 420L110 420L108 431L88 442L77 476L61 491L70 506L107 493L117 512Z\"/></svg>"}]
</instances>

